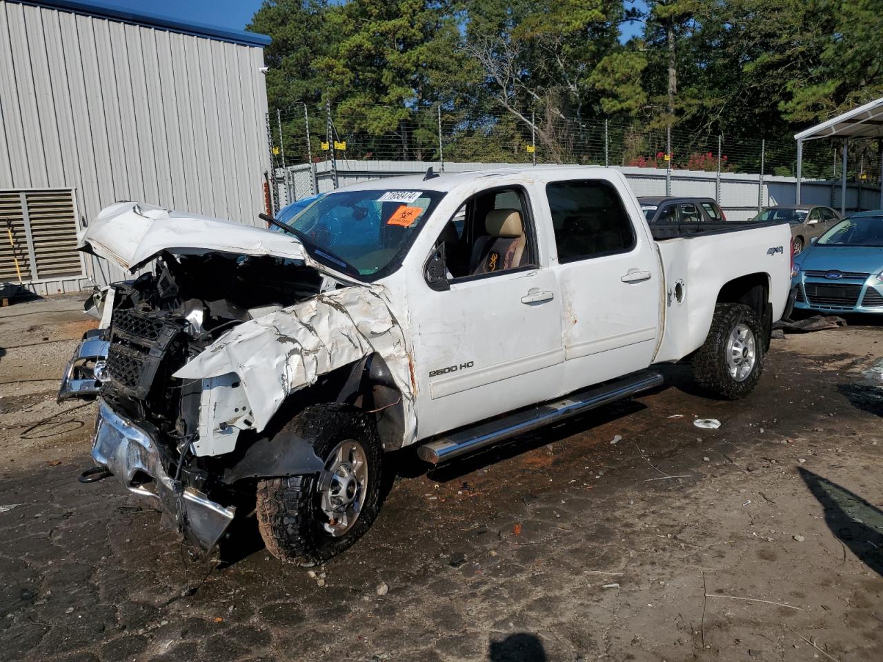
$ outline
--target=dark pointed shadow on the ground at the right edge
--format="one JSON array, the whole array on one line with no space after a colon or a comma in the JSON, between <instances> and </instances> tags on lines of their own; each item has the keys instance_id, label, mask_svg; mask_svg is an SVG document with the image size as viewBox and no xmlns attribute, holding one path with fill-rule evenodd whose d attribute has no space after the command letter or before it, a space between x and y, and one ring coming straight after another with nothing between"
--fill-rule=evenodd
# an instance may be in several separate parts
<instances>
[{"instance_id":1,"label":"dark pointed shadow on the ground at the right edge","mask_svg":"<svg viewBox=\"0 0 883 662\"><path fill-rule=\"evenodd\" d=\"M883 511L848 489L799 467L800 478L825 508L825 523L858 560L883 576Z\"/></svg>"}]
</instances>

